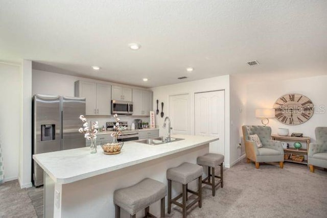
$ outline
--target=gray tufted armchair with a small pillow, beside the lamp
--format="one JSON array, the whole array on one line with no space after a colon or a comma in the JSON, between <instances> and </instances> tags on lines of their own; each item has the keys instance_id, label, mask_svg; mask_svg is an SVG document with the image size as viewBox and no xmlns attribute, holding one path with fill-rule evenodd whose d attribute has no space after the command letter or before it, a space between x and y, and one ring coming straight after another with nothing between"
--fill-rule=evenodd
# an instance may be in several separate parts
<instances>
[{"instance_id":1,"label":"gray tufted armchair with a small pillow, beside the lamp","mask_svg":"<svg viewBox=\"0 0 327 218\"><path fill-rule=\"evenodd\" d=\"M242 126L247 162L255 162L259 169L262 162L279 162L279 167L284 166L284 149L280 141L271 139L271 128L267 126ZM262 148L258 148L249 135L257 134L261 140Z\"/></svg>"}]
</instances>

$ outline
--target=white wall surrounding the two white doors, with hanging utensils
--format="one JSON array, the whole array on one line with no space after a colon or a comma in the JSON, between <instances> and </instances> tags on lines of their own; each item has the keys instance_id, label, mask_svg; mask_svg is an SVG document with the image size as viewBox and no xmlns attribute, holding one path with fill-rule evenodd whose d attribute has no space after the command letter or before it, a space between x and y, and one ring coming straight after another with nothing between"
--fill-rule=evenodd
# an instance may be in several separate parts
<instances>
[{"instance_id":1,"label":"white wall surrounding the two white doors, with hanging utensils","mask_svg":"<svg viewBox=\"0 0 327 218\"><path fill-rule=\"evenodd\" d=\"M229 167L229 75L197 80L192 82L178 83L168 86L159 86L151 88L153 91L153 109L156 110L156 100L159 104L164 102L165 116L169 114L169 96L176 94L190 94L191 99L191 134L194 134L194 93L214 90L225 90L225 166ZM160 112L161 112L161 105ZM160 117L160 113L156 115L156 125L159 126L159 135L166 135L167 129L163 129L164 118Z\"/></svg>"}]
</instances>

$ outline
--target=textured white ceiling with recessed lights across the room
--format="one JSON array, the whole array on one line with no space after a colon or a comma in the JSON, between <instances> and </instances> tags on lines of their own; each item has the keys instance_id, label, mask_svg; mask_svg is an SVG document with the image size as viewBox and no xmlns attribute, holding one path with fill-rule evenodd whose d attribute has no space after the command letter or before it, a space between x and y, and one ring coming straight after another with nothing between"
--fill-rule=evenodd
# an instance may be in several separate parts
<instances>
[{"instance_id":1,"label":"textured white ceiling with recessed lights across the room","mask_svg":"<svg viewBox=\"0 0 327 218\"><path fill-rule=\"evenodd\" d=\"M0 0L0 61L144 87L227 74L317 76L327 74L326 11L325 0ZM247 66L252 60L261 64Z\"/></svg>"}]
</instances>

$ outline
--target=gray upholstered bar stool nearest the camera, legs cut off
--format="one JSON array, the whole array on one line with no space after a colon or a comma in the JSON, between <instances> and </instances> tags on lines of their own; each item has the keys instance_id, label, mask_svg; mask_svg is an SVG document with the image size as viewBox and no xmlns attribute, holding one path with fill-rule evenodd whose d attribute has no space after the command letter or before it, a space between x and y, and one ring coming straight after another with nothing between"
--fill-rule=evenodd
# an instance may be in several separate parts
<instances>
[{"instance_id":1,"label":"gray upholstered bar stool nearest the camera, legs cut off","mask_svg":"<svg viewBox=\"0 0 327 218\"><path fill-rule=\"evenodd\" d=\"M121 208L133 218L136 217L136 212L142 209L145 209L146 217L155 217L150 213L150 205L158 200L161 201L160 217L165 217L165 196L166 185L149 178L133 186L115 190L113 193L115 217L120 217Z\"/></svg>"}]
</instances>

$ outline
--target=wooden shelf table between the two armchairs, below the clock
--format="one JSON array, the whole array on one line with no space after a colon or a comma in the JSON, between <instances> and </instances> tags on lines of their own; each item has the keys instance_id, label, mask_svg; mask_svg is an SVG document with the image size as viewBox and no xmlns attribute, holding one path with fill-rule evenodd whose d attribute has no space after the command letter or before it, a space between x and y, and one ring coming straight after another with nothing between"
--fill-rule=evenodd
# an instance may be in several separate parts
<instances>
[{"instance_id":1,"label":"wooden shelf table between the two armchairs, below the clock","mask_svg":"<svg viewBox=\"0 0 327 218\"><path fill-rule=\"evenodd\" d=\"M284 152L292 153L292 154L301 154L301 155L307 155L308 157L308 151L309 151L309 143L310 143L310 137L303 136L303 137L292 137L292 136L279 136L279 135L271 135L272 140L278 140L278 141L303 141L307 143L307 149L295 149L295 148L289 148L284 149ZM301 163L308 165L308 160L303 160L302 162L293 161L291 159L284 160L285 162L293 162L293 163Z\"/></svg>"}]
</instances>

